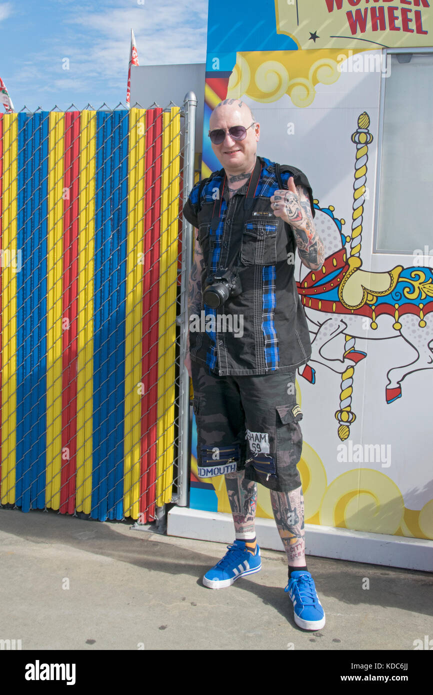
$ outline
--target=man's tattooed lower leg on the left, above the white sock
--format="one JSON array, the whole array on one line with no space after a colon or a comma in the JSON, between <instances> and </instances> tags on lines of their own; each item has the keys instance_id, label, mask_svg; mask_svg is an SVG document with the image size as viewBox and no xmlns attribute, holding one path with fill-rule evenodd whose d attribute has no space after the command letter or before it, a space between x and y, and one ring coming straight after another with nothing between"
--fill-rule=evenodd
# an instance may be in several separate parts
<instances>
[{"instance_id":1,"label":"man's tattooed lower leg on the left, above the white sock","mask_svg":"<svg viewBox=\"0 0 433 695\"><path fill-rule=\"evenodd\" d=\"M247 540L256 535L257 484L254 480L245 480L244 473L226 473L224 477L236 538Z\"/></svg>"}]
</instances>

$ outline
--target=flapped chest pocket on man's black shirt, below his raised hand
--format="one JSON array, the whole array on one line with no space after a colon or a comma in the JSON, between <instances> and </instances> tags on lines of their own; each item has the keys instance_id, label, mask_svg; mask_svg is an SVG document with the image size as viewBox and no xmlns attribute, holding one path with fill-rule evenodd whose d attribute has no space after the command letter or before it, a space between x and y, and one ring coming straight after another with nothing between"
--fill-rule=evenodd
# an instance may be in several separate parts
<instances>
[{"instance_id":1,"label":"flapped chest pocket on man's black shirt, below his raised hand","mask_svg":"<svg viewBox=\"0 0 433 695\"><path fill-rule=\"evenodd\" d=\"M243 265L277 263L277 229L278 220L275 218L247 220L240 250L240 261Z\"/></svg>"}]
</instances>

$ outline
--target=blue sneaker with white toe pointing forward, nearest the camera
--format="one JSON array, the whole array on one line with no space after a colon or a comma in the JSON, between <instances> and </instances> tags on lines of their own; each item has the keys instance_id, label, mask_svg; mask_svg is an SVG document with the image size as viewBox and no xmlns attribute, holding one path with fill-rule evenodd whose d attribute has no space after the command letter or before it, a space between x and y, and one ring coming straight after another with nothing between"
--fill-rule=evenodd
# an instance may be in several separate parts
<instances>
[{"instance_id":1,"label":"blue sneaker with white toe pointing forward, nearest the camera","mask_svg":"<svg viewBox=\"0 0 433 695\"><path fill-rule=\"evenodd\" d=\"M297 626L304 630L320 630L325 626L325 612L309 572L292 572L284 591L293 601Z\"/></svg>"}]
</instances>

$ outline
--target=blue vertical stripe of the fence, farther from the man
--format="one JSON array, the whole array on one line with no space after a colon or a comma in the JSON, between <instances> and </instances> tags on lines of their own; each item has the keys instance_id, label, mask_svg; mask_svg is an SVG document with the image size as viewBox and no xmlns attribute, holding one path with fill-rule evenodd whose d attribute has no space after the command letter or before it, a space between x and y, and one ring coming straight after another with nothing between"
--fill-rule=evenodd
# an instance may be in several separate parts
<instances>
[{"instance_id":1,"label":"blue vertical stripe of the fence, farther from the man","mask_svg":"<svg viewBox=\"0 0 433 695\"><path fill-rule=\"evenodd\" d=\"M18 114L16 504L45 507L49 113Z\"/></svg>"}]
</instances>

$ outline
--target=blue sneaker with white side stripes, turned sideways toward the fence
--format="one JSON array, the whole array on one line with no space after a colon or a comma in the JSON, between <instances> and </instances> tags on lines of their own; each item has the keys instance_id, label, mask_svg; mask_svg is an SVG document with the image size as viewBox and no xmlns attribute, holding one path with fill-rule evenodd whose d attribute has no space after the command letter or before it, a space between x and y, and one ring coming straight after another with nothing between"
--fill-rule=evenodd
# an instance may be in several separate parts
<instances>
[{"instance_id":1,"label":"blue sneaker with white side stripes, turned sideways toward the fence","mask_svg":"<svg viewBox=\"0 0 433 695\"><path fill-rule=\"evenodd\" d=\"M215 567L206 572L203 584L209 589L223 589L229 587L239 577L246 574L254 574L261 569L261 557L259 545L256 546L254 555L246 550L245 541L234 541L224 557L215 564Z\"/></svg>"}]
</instances>

